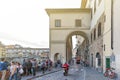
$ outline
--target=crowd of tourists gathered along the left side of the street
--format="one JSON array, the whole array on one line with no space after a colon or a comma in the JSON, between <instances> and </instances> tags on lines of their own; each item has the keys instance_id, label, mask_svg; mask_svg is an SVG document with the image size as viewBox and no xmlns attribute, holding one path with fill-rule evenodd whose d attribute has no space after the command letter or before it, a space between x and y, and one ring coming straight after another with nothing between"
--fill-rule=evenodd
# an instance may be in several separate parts
<instances>
[{"instance_id":1,"label":"crowd of tourists gathered along the left side of the street","mask_svg":"<svg viewBox=\"0 0 120 80\"><path fill-rule=\"evenodd\" d=\"M38 61L34 58L24 59L20 64L16 61L8 63L5 58L0 61L0 80L21 80L23 76L35 76L36 72L52 70L53 62L48 60Z\"/></svg>"}]
</instances>

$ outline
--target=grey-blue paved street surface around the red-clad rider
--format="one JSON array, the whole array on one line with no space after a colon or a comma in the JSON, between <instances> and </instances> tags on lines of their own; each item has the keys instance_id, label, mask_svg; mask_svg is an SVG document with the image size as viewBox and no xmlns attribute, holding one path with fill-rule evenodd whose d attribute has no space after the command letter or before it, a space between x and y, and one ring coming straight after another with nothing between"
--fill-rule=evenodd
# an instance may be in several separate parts
<instances>
[{"instance_id":1,"label":"grey-blue paved street surface around the red-clad rider","mask_svg":"<svg viewBox=\"0 0 120 80\"><path fill-rule=\"evenodd\" d=\"M89 67L81 67L79 65L72 66L68 76L63 76L63 70L44 75L32 80L111 80L103 76Z\"/></svg>"}]
</instances>

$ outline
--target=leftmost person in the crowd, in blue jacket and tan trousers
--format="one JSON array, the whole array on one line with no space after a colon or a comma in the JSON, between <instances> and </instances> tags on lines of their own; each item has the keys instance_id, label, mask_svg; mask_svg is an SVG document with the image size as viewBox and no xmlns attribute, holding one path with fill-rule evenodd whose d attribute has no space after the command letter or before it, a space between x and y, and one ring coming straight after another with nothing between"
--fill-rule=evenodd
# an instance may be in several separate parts
<instances>
[{"instance_id":1,"label":"leftmost person in the crowd, in blue jacket and tan trousers","mask_svg":"<svg viewBox=\"0 0 120 80\"><path fill-rule=\"evenodd\" d=\"M5 62L5 58L2 58L0 62L0 72L2 72L1 80L5 80L6 71L7 71L7 64Z\"/></svg>"}]
</instances>

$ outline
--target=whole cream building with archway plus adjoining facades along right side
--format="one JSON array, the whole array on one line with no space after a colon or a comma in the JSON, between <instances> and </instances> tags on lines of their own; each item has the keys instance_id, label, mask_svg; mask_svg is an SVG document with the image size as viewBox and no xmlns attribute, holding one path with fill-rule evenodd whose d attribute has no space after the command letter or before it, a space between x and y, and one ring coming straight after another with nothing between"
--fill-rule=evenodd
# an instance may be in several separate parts
<instances>
[{"instance_id":1,"label":"whole cream building with archway plus adjoining facades along right side","mask_svg":"<svg viewBox=\"0 0 120 80\"><path fill-rule=\"evenodd\" d=\"M50 20L50 58L71 59L72 35L84 41L78 52L94 69L120 74L119 0L82 0L80 8L46 9Z\"/></svg>"}]
</instances>

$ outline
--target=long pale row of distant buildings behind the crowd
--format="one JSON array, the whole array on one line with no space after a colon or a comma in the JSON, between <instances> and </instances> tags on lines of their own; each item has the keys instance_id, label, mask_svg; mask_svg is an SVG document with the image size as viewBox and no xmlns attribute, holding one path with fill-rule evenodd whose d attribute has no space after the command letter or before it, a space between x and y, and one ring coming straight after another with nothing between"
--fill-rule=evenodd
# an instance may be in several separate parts
<instances>
[{"instance_id":1,"label":"long pale row of distant buildings behind the crowd","mask_svg":"<svg viewBox=\"0 0 120 80\"><path fill-rule=\"evenodd\" d=\"M42 57L43 54L47 54L47 56ZM22 60L25 58L47 59L49 58L49 48L27 48L20 45L7 45L6 58L8 60L16 60L18 58Z\"/></svg>"}]
</instances>

